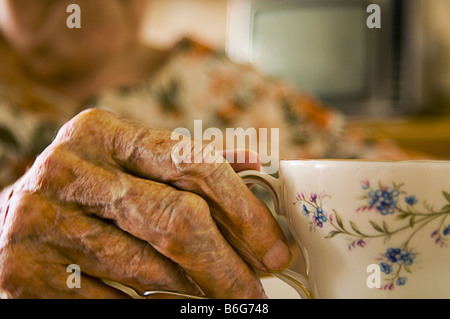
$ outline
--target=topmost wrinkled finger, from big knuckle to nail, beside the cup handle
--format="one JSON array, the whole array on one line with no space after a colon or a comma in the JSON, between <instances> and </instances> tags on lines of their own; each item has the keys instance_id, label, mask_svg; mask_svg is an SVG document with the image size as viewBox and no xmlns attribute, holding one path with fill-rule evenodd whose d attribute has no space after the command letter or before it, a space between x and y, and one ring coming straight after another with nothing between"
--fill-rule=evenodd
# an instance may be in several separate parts
<instances>
[{"instance_id":1,"label":"topmost wrinkled finger, from big knuckle to nail, beside the cup handle","mask_svg":"<svg viewBox=\"0 0 450 319\"><path fill-rule=\"evenodd\" d=\"M195 163L203 148L189 139L180 140L170 132L148 129L99 110L84 112L68 123L56 142L75 135L77 143L71 146L78 154L90 158L97 152L97 160L107 154L103 161L111 165L205 198L227 240L252 266L279 271L289 264L291 253L277 222L220 154L206 154L213 161L209 157ZM173 151L180 148L193 150L190 162L174 160Z\"/></svg>"}]
</instances>

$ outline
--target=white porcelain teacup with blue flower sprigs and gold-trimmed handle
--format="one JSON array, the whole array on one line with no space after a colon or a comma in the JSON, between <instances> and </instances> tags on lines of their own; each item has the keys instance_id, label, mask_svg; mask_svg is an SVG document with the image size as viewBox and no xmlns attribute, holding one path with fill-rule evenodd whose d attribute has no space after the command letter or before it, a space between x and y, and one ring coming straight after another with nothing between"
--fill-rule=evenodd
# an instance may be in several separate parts
<instances>
[{"instance_id":1,"label":"white porcelain teacup with blue flower sprigs and gold-trimmed handle","mask_svg":"<svg viewBox=\"0 0 450 319\"><path fill-rule=\"evenodd\" d=\"M306 260L312 298L450 298L450 162L286 160L267 187ZM292 281L291 281L292 282Z\"/></svg>"}]
</instances>

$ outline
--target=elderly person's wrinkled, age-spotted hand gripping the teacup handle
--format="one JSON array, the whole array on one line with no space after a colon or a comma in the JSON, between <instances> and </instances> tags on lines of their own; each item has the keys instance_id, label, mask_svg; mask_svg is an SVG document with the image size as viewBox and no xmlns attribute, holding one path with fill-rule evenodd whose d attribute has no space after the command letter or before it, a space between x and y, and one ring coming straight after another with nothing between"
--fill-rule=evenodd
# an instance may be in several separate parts
<instances>
[{"instance_id":1,"label":"elderly person's wrinkled, age-spotted hand gripping the teacup handle","mask_svg":"<svg viewBox=\"0 0 450 319\"><path fill-rule=\"evenodd\" d=\"M278 224L225 160L177 163L171 132L102 110L66 123L0 202L0 292L115 298L173 290L260 298L290 261ZM69 288L77 264L81 288Z\"/></svg>"}]
</instances>

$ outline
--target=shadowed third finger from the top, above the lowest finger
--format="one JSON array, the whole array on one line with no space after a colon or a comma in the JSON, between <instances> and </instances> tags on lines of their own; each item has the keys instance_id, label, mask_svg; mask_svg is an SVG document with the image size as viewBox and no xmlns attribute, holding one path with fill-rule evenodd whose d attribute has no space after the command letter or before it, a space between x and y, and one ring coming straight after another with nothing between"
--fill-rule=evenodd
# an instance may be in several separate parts
<instances>
[{"instance_id":1,"label":"shadowed third finger from the top, above the lowest finger","mask_svg":"<svg viewBox=\"0 0 450 319\"><path fill-rule=\"evenodd\" d=\"M30 197L21 206L22 209L33 207L35 213L28 214L23 227L38 227L39 238L33 245L39 249L38 258L42 260L34 264L55 268L49 271L51 276L45 281L57 281L49 285L56 290L70 296L121 296L111 292L111 287L100 281L101 278L131 287L140 295L147 290L203 294L177 264L145 241L111 223L85 215L76 206L44 196ZM58 268L61 264L65 265L64 269ZM62 281L69 276L65 268L69 264L79 267L83 289L69 289L66 280Z\"/></svg>"}]
</instances>

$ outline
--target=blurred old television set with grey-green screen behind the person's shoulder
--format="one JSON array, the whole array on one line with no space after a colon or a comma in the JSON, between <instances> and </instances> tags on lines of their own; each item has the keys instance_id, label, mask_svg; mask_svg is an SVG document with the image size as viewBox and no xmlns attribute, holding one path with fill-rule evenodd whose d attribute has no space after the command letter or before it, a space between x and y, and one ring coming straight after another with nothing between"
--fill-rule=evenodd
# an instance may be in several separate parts
<instances>
[{"instance_id":1,"label":"blurred old television set with grey-green screen behind the person's shoulder","mask_svg":"<svg viewBox=\"0 0 450 319\"><path fill-rule=\"evenodd\" d=\"M381 27L369 28L370 4ZM292 81L350 116L423 107L420 2L230 0L227 54Z\"/></svg>"}]
</instances>

